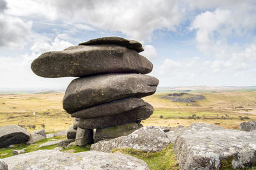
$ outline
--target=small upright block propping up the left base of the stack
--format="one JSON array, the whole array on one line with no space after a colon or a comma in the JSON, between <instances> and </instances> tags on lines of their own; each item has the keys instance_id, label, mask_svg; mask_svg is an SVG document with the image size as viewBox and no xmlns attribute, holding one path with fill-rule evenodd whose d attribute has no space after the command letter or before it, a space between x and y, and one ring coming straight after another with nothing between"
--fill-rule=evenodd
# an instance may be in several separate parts
<instances>
[{"instance_id":1,"label":"small upright block propping up the left base of the stack","mask_svg":"<svg viewBox=\"0 0 256 170\"><path fill-rule=\"evenodd\" d=\"M76 131L76 145L84 146L93 143L93 131L92 129L81 129L77 127Z\"/></svg>"}]
</instances>

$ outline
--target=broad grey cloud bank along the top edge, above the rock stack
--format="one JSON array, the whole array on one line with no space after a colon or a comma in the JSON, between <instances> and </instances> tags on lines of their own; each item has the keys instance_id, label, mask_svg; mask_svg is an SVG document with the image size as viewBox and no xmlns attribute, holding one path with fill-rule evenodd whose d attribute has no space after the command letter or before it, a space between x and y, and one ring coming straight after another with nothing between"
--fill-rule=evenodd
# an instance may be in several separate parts
<instances>
[{"instance_id":1,"label":"broad grey cloud bank along the top edge, above the rock stack","mask_svg":"<svg viewBox=\"0 0 256 170\"><path fill-rule=\"evenodd\" d=\"M88 24L105 31L122 32L128 38L150 39L156 29L175 31L184 19L185 10L175 0L169 1L8 1L8 14L38 16ZM80 25L81 26L81 25Z\"/></svg>"}]
</instances>

